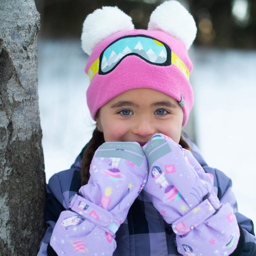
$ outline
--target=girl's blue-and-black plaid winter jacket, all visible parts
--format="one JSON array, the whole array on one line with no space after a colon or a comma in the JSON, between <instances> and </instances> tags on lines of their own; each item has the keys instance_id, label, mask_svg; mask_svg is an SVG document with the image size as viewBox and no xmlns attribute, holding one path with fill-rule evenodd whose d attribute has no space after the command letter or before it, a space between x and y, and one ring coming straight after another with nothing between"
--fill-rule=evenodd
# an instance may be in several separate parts
<instances>
[{"instance_id":1,"label":"girl's blue-and-black plaid winter jacket, all visible parts","mask_svg":"<svg viewBox=\"0 0 256 256\"><path fill-rule=\"evenodd\" d=\"M220 202L235 202L231 205L240 226L240 241L232 256L256 255L254 226L250 219L237 212L237 204L231 192L232 182L221 171L210 168L203 160L197 147L191 142L192 153L206 172L214 176L214 191ZM84 150L84 149L83 149ZM48 246L52 230L62 210L68 209L69 202L80 188L80 162L83 150L69 170L53 175L47 185L48 199L45 219L49 227L40 244L38 256L56 255ZM225 193L225 201L222 195ZM175 234L151 202L150 194L142 191L131 206L127 219L116 233L117 248L113 255L118 256L175 256L177 252ZM97 245L96 245L97 246ZM48 247L48 249L47 249ZM50 247L50 248L49 248ZM184 251L185 255L185 251Z\"/></svg>"}]
</instances>

